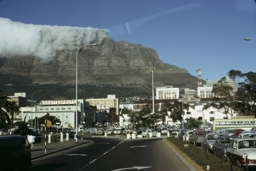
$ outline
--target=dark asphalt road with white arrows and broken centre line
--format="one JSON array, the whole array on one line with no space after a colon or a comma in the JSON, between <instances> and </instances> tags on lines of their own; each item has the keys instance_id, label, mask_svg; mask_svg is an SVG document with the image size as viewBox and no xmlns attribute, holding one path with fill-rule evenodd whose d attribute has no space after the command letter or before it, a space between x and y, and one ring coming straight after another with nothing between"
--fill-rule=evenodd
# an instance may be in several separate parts
<instances>
[{"instance_id":1,"label":"dark asphalt road with white arrows and broken centre line","mask_svg":"<svg viewBox=\"0 0 256 171\"><path fill-rule=\"evenodd\" d=\"M86 138L83 144L32 160L30 171L187 171L162 139Z\"/></svg>"}]
</instances>

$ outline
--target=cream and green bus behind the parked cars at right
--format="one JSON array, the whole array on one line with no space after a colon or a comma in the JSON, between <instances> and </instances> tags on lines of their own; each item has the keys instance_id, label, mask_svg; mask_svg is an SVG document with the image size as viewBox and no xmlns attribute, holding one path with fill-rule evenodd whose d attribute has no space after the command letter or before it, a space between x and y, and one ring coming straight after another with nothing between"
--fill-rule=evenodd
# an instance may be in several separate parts
<instances>
[{"instance_id":1,"label":"cream and green bus behind the parked cars at right","mask_svg":"<svg viewBox=\"0 0 256 171\"><path fill-rule=\"evenodd\" d=\"M251 130L256 126L256 118L254 116L233 116L231 119L215 119L213 120L213 130L217 129L234 129L240 128Z\"/></svg>"}]
</instances>

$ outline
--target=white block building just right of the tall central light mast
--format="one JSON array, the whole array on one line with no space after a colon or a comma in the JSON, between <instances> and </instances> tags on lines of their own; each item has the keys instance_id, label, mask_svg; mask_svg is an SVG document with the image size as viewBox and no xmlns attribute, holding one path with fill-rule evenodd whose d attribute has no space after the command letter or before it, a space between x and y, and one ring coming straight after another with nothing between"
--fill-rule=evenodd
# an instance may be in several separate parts
<instances>
[{"instance_id":1,"label":"white block building just right of the tall central light mast","mask_svg":"<svg viewBox=\"0 0 256 171\"><path fill-rule=\"evenodd\" d=\"M167 87L157 87L156 88L156 99L179 99L180 92L179 88L172 88L172 86Z\"/></svg>"}]
</instances>

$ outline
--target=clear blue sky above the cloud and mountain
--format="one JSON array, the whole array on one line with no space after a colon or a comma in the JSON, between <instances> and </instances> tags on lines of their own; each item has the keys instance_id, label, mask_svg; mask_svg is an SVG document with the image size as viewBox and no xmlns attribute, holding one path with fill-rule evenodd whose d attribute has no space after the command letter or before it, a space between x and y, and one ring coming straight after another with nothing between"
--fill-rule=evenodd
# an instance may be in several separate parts
<instances>
[{"instance_id":1,"label":"clear blue sky above the cloud and mountain","mask_svg":"<svg viewBox=\"0 0 256 171\"><path fill-rule=\"evenodd\" d=\"M25 24L109 29L114 41L153 48L202 79L256 72L254 0L1 0L0 17ZM161 68L156 68L161 69Z\"/></svg>"}]
</instances>

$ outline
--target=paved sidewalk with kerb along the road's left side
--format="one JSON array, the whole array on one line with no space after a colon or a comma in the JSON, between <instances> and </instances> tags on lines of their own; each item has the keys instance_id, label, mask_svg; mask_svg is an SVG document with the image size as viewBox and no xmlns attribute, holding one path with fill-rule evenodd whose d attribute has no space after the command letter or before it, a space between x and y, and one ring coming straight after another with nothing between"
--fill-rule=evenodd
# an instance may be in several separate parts
<instances>
[{"instance_id":1,"label":"paved sidewalk with kerb along the road's left side","mask_svg":"<svg viewBox=\"0 0 256 171\"><path fill-rule=\"evenodd\" d=\"M86 144L89 143L89 140L86 139L78 139L78 144L76 144L75 139L71 139L69 141L64 141L64 142L58 142L58 143L51 143L51 144L46 144L46 153L44 153L44 144L37 146L34 144L33 151L31 152L31 159L38 159L40 157L44 157L56 152L60 152L62 150L66 150L72 147L76 147L78 145Z\"/></svg>"}]
</instances>

